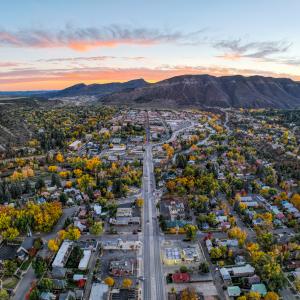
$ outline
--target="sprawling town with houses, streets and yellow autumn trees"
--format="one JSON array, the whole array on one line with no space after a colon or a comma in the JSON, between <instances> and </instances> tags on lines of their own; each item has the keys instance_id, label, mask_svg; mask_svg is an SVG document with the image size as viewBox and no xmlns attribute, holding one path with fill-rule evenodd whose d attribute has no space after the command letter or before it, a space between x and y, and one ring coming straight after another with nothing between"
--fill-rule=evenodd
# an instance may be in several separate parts
<instances>
[{"instance_id":1,"label":"sprawling town with houses, streets and yellow autumn trees","mask_svg":"<svg viewBox=\"0 0 300 300\"><path fill-rule=\"evenodd\" d=\"M21 110L0 299L298 299L292 111ZM297 127L298 126L298 127Z\"/></svg>"}]
</instances>

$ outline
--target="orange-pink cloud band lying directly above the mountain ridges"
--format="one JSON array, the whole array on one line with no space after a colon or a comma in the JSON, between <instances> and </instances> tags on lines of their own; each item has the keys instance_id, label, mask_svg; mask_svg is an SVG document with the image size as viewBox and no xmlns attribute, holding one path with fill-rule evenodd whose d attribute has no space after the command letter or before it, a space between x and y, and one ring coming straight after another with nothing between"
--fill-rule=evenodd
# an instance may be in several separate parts
<instances>
[{"instance_id":1,"label":"orange-pink cloud band lying directly above the mountain ridges","mask_svg":"<svg viewBox=\"0 0 300 300\"><path fill-rule=\"evenodd\" d=\"M289 74L274 73L255 69L222 68L217 66L168 66L157 68L70 68L70 69L19 69L0 72L0 90L34 90L34 89L59 89L85 82L101 83L127 81L136 78L144 78L155 82L169 77L184 74L211 74L215 76L225 75L264 75L273 77L291 77ZM294 76L300 80L300 76Z\"/></svg>"}]
</instances>

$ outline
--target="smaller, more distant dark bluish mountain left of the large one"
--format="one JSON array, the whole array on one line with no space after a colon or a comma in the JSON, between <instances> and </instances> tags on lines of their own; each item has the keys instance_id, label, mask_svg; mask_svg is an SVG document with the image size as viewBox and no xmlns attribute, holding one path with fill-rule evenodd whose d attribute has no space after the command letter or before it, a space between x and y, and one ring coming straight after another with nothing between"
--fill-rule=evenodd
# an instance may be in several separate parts
<instances>
[{"instance_id":1,"label":"smaller, more distant dark bluish mountain left of the large one","mask_svg":"<svg viewBox=\"0 0 300 300\"><path fill-rule=\"evenodd\" d=\"M104 84L79 83L64 90L49 93L49 97L74 97L74 96L97 96L103 97L115 92L129 92L135 88L145 87L148 83L144 79L135 79L127 82L112 82Z\"/></svg>"}]
</instances>

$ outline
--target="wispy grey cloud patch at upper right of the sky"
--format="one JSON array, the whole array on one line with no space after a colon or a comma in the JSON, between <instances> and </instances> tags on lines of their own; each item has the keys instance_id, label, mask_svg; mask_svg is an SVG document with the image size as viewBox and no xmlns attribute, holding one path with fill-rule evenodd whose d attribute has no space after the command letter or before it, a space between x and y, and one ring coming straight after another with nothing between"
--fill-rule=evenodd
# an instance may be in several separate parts
<instances>
[{"instance_id":1,"label":"wispy grey cloud patch at upper right of the sky","mask_svg":"<svg viewBox=\"0 0 300 300\"><path fill-rule=\"evenodd\" d=\"M215 42L213 46L225 51L218 57L236 60L240 58L254 58L264 60L274 54L286 53L292 43L286 41L267 41L244 43L241 39L222 40Z\"/></svg>"}]
</instances>

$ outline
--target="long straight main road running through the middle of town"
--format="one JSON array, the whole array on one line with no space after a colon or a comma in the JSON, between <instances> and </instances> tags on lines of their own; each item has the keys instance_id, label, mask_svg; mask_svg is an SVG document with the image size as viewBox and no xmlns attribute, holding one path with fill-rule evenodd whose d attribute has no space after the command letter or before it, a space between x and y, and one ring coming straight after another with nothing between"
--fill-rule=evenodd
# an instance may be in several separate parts
<instances>
[{"instance_id":1,"label":"long straight main road running through the middle of town","mask_svg":"<svg viewBox=\"0 0 300 300\"><path fill-rule=\"evenodd\" d=\"M155 179L153 172L152 145L150 144L149 122L146 124L146 144L143 165L142 196L144 198L143 217L143 299L164 300L165 279L160 257L160 229L156 215Z\"/></svg>"}]
</instances>

